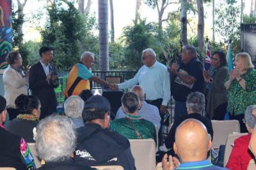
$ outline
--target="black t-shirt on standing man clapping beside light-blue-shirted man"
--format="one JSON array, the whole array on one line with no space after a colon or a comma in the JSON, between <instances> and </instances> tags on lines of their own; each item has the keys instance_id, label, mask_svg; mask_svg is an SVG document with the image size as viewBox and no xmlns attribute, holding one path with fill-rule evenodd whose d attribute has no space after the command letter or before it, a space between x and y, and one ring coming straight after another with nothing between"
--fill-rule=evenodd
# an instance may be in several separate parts
<instances>
[{"instance_id":1,"label":"black t-shirt on standing man clapping beside light-blue-shirted man","mask_svg":"<svg viewBox=\"0 0 256 170\"><path fill-rule=\"evenodd\" d=\"M191 92L204 92L204 67L200 60L195 57L191 59L187 64L180 62L179 72L193 76L196 81L193 85L188 85L181 81L179 77L172 78L171 92L176 101L186 101L186 97Z\"/></svg>"}]
</instances>

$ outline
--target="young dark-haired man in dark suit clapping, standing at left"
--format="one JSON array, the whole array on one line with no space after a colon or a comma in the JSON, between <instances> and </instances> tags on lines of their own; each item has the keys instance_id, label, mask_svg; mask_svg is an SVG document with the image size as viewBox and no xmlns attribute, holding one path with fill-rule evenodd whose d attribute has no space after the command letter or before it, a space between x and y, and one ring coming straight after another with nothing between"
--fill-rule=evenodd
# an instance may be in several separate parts
<instances>
[{"instance_id":1,"label":"young dark-haired man in dark suit clapping, standing at left","mask_svg":"<svg viewBox=\"0 0 256 170\"><path fill-rule=\"evenodd\" d=\"M33 65L29 71L29 89L33 96L41 102L40 119L56 111L57 99L54 88L58 87L58 74L56 68L50 64L52 60L52 47L43 46L39 50L41 60Z\"/></svg>"}]
</instances>

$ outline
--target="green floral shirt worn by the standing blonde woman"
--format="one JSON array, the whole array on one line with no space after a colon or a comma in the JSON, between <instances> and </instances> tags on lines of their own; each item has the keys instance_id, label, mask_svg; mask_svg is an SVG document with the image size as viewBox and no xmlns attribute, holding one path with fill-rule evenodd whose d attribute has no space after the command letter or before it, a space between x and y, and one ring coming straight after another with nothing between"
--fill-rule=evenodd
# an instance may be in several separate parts
<instances>
[{"instance_id":1,"label":"green floral shirt worn by the standing blonde woman","mask_svg":"<svg viewBox=\"0 0 256 170\"><path fill-rule=\"evenodd\" d=\"M227 111L232 115L244 114L246 108L256 104L256 70L249 69L241 75L245 81L246 90L235 79L228 89L228 108ZM229 74L226 81L229 80Z\"/></svg>"}]
</instances>

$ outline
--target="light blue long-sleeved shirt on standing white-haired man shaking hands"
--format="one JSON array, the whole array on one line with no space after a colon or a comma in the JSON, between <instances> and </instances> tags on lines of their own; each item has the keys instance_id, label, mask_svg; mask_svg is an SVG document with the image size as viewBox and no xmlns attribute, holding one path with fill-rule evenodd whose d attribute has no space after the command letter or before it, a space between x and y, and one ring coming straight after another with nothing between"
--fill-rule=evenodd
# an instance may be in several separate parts
<instances>
[{"instance_id":1,"label":"light blue long-sleeved shirt on standing white-haired man shaking hands","mask_svg":"<svg viewBox=\"0 0 256 170\"><path fill-rule=\"evenodd\" d=\"M146 100L163 99L162 105L167 105L170 100L171 90L170 75L166 66L157 61L152 67L144 65L134 78L118 84L118 88L127 89L138 83L144 89Z\"/></svg>"}]
</instances>

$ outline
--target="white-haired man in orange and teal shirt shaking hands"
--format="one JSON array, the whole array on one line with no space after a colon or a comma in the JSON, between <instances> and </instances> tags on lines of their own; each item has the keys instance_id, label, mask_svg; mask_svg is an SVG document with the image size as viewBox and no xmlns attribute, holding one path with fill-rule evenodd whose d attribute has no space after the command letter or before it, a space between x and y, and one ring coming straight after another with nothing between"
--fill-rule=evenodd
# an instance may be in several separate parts
<instances>
[{"instance_id":1,"label":"white-haired man in orange and teal shirt shaking hands","mask_svg":"<svg viewBox=\"0 0 256 170\"><path fill-rule=\"evenodd\" d=\"M97 76L92 74L92 66L94 63L94 53L84 52L80 57L80 61L72 67L68 74L67 87L65 89L65 98L69 96L78 96L83 90L90 90L90 80L101 85L106 85L109 88L113 87Z\"/></svg>"}]
</instances>

